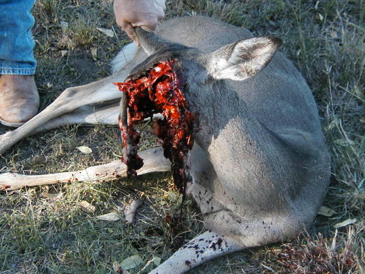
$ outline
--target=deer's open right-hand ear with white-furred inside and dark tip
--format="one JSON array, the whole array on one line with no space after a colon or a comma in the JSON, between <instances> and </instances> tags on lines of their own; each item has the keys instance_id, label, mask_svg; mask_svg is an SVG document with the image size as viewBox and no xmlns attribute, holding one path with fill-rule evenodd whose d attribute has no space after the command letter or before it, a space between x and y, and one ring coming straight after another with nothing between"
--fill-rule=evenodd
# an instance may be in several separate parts
<instances>
[{"instance_id":1,"label":"deer's open right-hand ear with white-furred inside and dark tip","mask_svg":"<svg viewBox=\"0 0 365 274\"><path fill-rule=\"evenodd\" d=\"M281 45L277 37L253 37L209 54L208 71L214 79L245 80L261 72Z\"/></svg>"}]
</instances>

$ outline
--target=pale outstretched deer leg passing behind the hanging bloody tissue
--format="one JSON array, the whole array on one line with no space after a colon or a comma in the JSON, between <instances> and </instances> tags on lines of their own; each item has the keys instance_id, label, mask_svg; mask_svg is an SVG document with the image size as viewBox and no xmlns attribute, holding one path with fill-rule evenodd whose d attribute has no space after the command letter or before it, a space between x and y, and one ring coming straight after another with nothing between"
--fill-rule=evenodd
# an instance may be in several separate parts
<instances>
[{"instance_id":1,"label":"pale outstretched deer leg passing behind the hanging bloody tissue","mask_svg":"<svg viewBox=\"0 0 365 274\"><path fill-rule=\"evenodd\" d=\"M161 148L149 149L139 153L143 166L138 175L151 172L164 172L171 168L171 163L163 156ZM65 172L46 175L21 175L14 173L0 174L0 190L16 190L24 186L41 186L72 181L106 182L126 177L126 165L121 160L88 167L76 172Z\"/></svg>"}]
</instances>

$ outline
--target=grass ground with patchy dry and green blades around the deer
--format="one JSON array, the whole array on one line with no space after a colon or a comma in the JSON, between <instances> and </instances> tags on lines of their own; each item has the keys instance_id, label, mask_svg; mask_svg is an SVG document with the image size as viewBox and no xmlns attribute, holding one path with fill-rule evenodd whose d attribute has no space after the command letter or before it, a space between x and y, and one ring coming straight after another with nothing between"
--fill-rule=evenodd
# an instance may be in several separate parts
<instances>
[{"instance_id":1,"label":"grass ground with patchy dry and green blades around the deer","mask_svg":"<svg viewBox=\"0 0 365 274\"><path fill-rule=\"evenodd\" d=\"M108 76L109 62L128 41L114 22L111 1L40 0L33 14L42 109L66 87ZM245 26L257 36L283 39L282 51L304 75L318 104L332 155L333 176L324 205L336 214L318 216L312 230L293 243L237 252L190 272L364 273L365 2L167 1L166 19L192 14ZM106 37L96 27L114 29L117 37ZM97 61L91 54L95 48ZM0 127L0 133L6 130ZM148 131L143 133L149 142L156 142ZM120 155L118 134L115 127L96 125L31 136L2 155L1 171L47 174L107 163ZM93 153L80 153L76 147L82 145ZM44 191L63 196L52 201L42 196ZM133 227L94 218L109 212L122 215L127 202L142 192L147 200ZM82 200L96 207L93 214L80 209ZM195 203L187 203L182 225L169 227L164 217L178 215L180 207L168 173L2 193L0 273L101 274L113 273L113 262L131 255L141 256L144 263L154 256L165 260L203 229ZM357 222L333 227L349 218ZM146 271L153 267L152 263Z\"/></svg>"}]
</instances>

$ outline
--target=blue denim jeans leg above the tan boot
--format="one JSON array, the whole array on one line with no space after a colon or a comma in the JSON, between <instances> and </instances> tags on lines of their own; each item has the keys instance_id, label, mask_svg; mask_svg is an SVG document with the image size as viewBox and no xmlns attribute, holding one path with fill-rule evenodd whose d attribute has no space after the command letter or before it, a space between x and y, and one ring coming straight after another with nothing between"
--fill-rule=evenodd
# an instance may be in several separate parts
<instances>
[{"instance_id":1,"label":"blue denim jeans leg above the tan boot","mask_svg":"<svg viewBox=\"0 0 365 274\"><path fill-rule=\"evenodd\" d=\"M0 0L0 74L35 73L30 10L35 0Z\"/></svg>"}]
</instances>

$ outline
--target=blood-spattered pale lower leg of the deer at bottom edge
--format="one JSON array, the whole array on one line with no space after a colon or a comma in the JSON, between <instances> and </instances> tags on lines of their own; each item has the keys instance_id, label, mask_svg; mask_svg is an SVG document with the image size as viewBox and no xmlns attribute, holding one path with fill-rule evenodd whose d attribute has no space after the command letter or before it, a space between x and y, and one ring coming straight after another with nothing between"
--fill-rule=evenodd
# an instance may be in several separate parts
<instances>
[{"instance_id":1,"label":"blood-spattered pale lower leg of the deer at bottom edge","mask_svg":"<svg viewBox=\"0 0 365 274\"><path fill-rule=\"evenodd\" d=\"M149 274L181 274L215 257L242 250L224 235L206 231L193 238L188 244L177 250L159 267Z\"/></svg>"}]
</instances>

